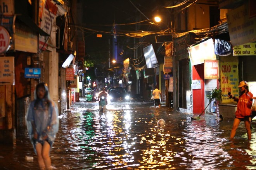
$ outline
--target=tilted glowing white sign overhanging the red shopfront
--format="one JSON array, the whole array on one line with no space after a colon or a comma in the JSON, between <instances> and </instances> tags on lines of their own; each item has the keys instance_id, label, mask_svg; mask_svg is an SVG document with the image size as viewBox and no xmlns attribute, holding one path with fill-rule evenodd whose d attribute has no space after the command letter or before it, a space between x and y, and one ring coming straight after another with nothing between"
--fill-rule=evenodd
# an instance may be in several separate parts
<instances>
[{"instance_id":1,"label":"tilted glowing white sign overhanging the red shopfront","mask_svg":"<svg viewBox=\"0 0 256 170\"><path fill-rule=\"evenodd\" d=\"M204 63L205 59L216 60L213 39L210 38L190 47L189 55L193 66Z\"/></svg>"}]
</instances>

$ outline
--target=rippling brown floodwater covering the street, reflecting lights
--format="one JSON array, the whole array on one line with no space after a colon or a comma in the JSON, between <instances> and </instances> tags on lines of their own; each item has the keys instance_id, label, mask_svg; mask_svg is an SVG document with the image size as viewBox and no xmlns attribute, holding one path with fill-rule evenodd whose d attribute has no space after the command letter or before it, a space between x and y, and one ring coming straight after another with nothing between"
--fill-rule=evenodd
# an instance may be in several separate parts
<instances>
[{"instance_id":1,"label":"rippling brown floodwater covering the street, reflecting lights","mask_svg":"<svg viewBox=\"0 0 256 170\"><path fill-rule=\"evenodd\" d=\"M243 170L256 169L256 132L252 140L242 122L229 141L232 121L205 114L176 112L153 102L112 102L99 112L96 102L78 102L62 114L51 151L57 170ZM164 119L165 126L157 126ZM27 161L25 156L33 156ZM0 146L0 169L38 169L26 130L14 146Z\"/></svg>"}]
</instances>

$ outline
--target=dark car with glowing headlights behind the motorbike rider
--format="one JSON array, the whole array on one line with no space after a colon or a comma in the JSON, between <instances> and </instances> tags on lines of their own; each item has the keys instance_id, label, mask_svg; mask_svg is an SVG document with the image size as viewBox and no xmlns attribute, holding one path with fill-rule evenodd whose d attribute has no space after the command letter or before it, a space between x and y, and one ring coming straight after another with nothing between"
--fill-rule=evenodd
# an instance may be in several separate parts
<instances>
[{"instance_id":1,"label":"dark car with glowing headlights behind the motorbike rider","mask_svg":"<svg viewBox=\"0 0 256 170\"><path fill-rule=\"evenodd\" d=\"M123 87L110 87L108 93L110 101L130 101L130 94Z\"/></svg>"}]
</instances>

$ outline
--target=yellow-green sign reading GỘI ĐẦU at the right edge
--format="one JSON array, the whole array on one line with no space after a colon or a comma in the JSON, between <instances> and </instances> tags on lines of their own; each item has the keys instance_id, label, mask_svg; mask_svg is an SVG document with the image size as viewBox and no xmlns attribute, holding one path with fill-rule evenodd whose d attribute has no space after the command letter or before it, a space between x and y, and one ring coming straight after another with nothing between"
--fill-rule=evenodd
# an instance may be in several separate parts
<instances>
[{"instance_id":1,"label":"yellow-green sign reading G\u1ed8I \u0110\u1ea6U at the right edge","mask_svg":"<svg viewBox=\"0 0 256 170\"><path fill-rule=\"evenodd\" d=\"M242 44L233 48L234 56L254 56L256 55L256 42Z\"/></svg>"}]
</instances>

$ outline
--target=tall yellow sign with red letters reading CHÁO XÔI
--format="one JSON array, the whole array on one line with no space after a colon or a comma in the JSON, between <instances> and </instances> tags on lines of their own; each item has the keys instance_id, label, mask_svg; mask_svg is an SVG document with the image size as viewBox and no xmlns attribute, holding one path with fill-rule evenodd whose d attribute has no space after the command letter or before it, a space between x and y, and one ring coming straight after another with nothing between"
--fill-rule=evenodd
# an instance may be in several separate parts
<instances>
[{"instance_id":1,"label":"tall yellow sign with red letters reading CH\u00c1O X\u00d4I","mask_svg":"<svg viewBox=\"0 0 256 170\"><path fill-rule=\"evenodd\" d=\"M220 63L220 86L223 93L222 102L234 102L228 98L228 92L238 97L238 63Z\"/></svg>"}]
</instances>

